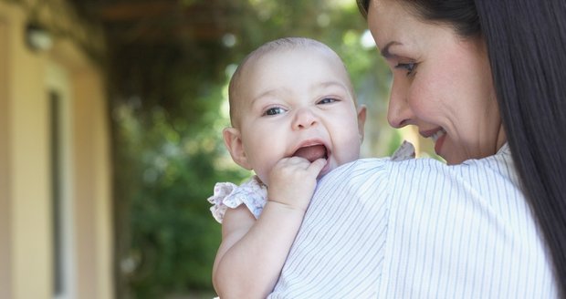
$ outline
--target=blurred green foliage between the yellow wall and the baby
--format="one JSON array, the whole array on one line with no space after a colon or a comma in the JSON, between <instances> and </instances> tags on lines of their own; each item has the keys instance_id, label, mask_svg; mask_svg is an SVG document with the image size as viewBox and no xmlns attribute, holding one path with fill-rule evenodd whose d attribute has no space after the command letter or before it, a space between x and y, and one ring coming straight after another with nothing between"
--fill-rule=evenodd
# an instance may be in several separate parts
<instances>
[{"instance_id":1,"label":"blurred green foliage between the yellow wall and the baby","mask_svg":"<svg viewBox=\"0 0 566 299\"><path fill-rule=\"evenodd\" d=\"M226 119L209 112L219 109L218 90L201 93L188 106L192 112L186 114L192 117L187 119L157 107L142 113L122 106L117 113L125 139L121 151L128 152L124 156L137 170L128 174L134 187L127 254L137 263L129 277L135 298L211 288L220 225L206 198L216 181L240 181L247 175L236 167L218 170L226 152L217 128Z\"/></svg>"}]
</instances>

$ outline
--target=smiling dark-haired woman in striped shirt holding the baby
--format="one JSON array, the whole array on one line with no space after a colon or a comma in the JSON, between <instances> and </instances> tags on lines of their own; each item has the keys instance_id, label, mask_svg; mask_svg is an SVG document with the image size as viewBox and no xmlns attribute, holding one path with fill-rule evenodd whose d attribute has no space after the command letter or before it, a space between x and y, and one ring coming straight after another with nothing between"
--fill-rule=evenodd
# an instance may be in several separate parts
<instances>
[{"instance_id":1,"label":"smiling dark-haired woman in striped shirt holding the baby","mask_svg":"<svg viewBox=\"0 0 566 299\"><path fill-rule=\"evenodd\" d=\"M359 6L393 72L391 125L449 165L328 174L271 297L566 296L564 2Z\"/></svg>"}]
</instances>

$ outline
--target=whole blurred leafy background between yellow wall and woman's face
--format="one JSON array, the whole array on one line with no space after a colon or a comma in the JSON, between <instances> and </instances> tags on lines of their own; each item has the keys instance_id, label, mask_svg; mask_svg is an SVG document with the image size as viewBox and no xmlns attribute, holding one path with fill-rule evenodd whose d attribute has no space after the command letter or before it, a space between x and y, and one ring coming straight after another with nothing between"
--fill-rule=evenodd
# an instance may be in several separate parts
<instances>
[{"instance_id":1,"label":"whole blurred leafy background between yellow wall and woman's face","mask_svg":"<svg viewBox=\"0 0 566 299\"><path fill-rule=\"evenodd\" d=\"M221 139L226 85L257 46L282 36L328 44L370 108L362 155L400 142L382 129L390 79L354 0L69 1L109 39L119 298L213 294L220 225L206 198L216 181L250 175Z\"/></svg>"}]
</instances>

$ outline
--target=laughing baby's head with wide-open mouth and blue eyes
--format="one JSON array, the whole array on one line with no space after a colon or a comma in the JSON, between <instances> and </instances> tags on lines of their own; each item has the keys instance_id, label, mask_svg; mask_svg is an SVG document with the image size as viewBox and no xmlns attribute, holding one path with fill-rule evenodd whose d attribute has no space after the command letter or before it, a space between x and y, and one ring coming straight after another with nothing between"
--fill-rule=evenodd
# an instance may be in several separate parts
<instances>
[{"instance_id":1,"label":"laughing baby's head with wide-open mouth and blue eyes","mask_svg":"<svg viewBox=\"0 0 566 299\"><path fill-rule=\"evenodd\" d=\"M257 48L236 69L229 101L226 147L267 185L283 158L324 157L322 175L359 158L365 107L341 58L318 41L288 37Z\"/></svg>"}]
</instances>

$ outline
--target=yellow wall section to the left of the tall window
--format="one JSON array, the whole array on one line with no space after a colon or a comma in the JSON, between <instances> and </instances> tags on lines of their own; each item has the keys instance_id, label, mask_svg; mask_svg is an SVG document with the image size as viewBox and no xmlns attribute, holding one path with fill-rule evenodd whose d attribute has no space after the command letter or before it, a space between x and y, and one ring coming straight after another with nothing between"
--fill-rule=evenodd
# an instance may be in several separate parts
<instances>
[{"instance_id":1,"label":"yellow wall section to the left of the tall window","mask_svg":"<svg viewBox=\"0 0 566 299\"><path fill-rule=\"evenodd\" d=\"M16 9L2 15L7 27L7 173L10 213L10 273L13 298L48 298L50 294L50 206L47 183L47 101L43 59L21 42L25 15ZM20 37L18 39L18 37ZM3 43L4 44L4 43Z\"/></svg>"}]
</instances>

